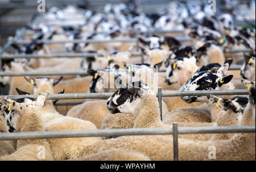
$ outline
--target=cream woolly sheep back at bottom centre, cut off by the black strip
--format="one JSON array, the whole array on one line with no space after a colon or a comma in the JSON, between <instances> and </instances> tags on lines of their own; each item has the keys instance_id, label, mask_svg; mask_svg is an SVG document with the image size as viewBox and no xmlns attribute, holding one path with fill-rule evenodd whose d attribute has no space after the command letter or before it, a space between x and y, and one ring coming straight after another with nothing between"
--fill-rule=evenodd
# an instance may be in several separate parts
<instances>
[{"instance_id":1,"label":"cream woolly sheep back at bottom centre, cut off by the black strip","mask_svg":"<svg viewBox=\"0 0 256 172\"><path fill-rule=\"evenodd\" d=\"M150 161L150 158L129 149L108 149L96 154L71 159L71 161Z\"/></svg>"}]
</instances>

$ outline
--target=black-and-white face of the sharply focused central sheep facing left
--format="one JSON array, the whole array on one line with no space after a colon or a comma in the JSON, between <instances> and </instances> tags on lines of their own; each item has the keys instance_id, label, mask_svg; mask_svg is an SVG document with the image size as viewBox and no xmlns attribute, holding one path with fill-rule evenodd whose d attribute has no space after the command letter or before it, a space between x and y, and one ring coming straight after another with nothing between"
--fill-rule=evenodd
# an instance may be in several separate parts
<instances>
[{"instance_id":1,"label":"black-and-white face of the sharply focused central sheep facing left","mask_svg":"<svg viewBox=\"0 0 256 172\"><path fill-rule=\"evenodd\" d=\"M146 94L154 94L142 81L127 84L119 88L107 101L107 108L111 114L131 113L135 114Z\"/></svg>"}]
</instances>

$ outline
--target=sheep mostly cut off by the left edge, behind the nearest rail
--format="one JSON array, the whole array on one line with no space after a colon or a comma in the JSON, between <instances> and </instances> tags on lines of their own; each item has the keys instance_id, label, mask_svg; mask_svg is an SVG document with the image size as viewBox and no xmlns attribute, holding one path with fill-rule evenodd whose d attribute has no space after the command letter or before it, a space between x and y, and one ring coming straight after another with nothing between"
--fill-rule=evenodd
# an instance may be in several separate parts
<instances>
[{"instance_id":1,"label":"sheep mostly cut off by the left edge, behind the nearest rail","mask_svg":"<svg viewBox=\"0 0 256 172\"><path fill-rule=\"evenodd\" d=\"M9 132L9 127L7 126L7 115L6 115L5 107L2 107L2 104L0 104L0 133ZM0 141L0 157L4 155L8 155L11 153L14 153L14 147L11 143L11 141L2 140Z\"/></svg>"}]
</instances>

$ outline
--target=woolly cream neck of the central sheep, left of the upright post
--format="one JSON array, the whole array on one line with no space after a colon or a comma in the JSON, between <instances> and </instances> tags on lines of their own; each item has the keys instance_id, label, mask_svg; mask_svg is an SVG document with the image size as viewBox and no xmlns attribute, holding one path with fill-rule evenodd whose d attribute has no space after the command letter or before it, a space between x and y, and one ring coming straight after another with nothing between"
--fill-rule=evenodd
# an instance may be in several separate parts
<instances>
[{"instance_id":1,"label":"woolly cream neck of the central sheep, left of the upright post","mask_svg":"<svg viewBox=\"0 0 256 172\"><path fill-rule=\"evenodd\" d=\"M158 127L161 124L158 100L154 94L147 94L134 114L134 128Z\"/></svg>"}]
</instances>

